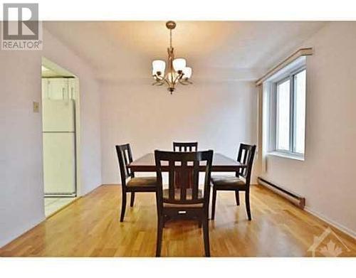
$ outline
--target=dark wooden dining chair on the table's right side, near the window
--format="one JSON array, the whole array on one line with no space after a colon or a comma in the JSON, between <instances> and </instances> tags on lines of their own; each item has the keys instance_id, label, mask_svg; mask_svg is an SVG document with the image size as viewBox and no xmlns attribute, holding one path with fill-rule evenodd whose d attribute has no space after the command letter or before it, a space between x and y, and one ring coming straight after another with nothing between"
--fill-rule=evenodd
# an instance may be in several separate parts
<instances>
[{"instance_id":1,"label":"dark wooden dining chair on the table's right side, near the window","mask_svg":"<svg viewBox=\"0 0 356 278\"><path fill-rule=\"evenodd\" d=\"M216 191L235 191L236 205L240 205L239 192L245 191L245 203L248 220L251 221L250 208L250 182L251 171L253 164L253 156L255 155L256 145L240 144L237 161L247 165L246 168L241 168L236 171L235 176L212 176L211 183L213 184L213 200L211 208L211 220L215 218Z\"/></svg>"}]
</instances>

